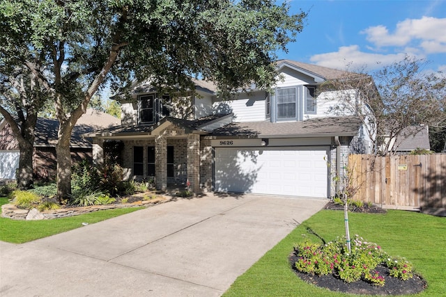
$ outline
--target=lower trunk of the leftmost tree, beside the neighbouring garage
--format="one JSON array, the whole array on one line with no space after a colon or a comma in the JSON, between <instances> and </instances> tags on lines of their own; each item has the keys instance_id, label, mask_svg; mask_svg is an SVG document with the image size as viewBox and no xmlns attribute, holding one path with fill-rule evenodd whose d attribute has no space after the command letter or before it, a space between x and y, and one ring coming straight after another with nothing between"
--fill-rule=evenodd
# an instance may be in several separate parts
<instances>
[{"instance_id":1,"label":"lower trunk of the leftmost tree, beside the neighbouring garage","mask_svg":"<svg viewBox=\"0 0 446 297\"><path fill-rule=\"evenodd\" d=\"M15 178L17 179L17 186L26 190L33 184L33 143L26 140L19 141L19 148L19 168Z\"/></svg>"}]
</instances>

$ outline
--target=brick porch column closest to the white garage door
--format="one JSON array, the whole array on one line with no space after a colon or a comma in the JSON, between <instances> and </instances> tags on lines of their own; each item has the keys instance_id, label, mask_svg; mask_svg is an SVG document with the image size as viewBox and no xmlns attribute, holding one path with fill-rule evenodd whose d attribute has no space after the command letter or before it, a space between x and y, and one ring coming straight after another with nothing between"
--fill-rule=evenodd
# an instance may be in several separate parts
<instances>
[{"instance_id":1,"label":"brick porch column closest to the white garage door","mask_svg":"<svg viewBox=\"0 0 446 297\"><path fill-rule=\"evenodd\" d=\"M200 136L187 135L187 180L194 193L200 191Z\"/></svg>"}]
</instances>

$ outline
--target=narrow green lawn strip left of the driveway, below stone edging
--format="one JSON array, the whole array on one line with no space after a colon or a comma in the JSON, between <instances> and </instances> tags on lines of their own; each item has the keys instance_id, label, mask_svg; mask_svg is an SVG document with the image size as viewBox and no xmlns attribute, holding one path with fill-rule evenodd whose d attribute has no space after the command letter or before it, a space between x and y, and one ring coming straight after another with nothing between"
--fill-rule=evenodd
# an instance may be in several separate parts
<instances>
[{"instance_id":1,"label":"narrow green lawn strip left of the driveway, below stone edging","mask_svg":"<svg viewBox=\"0 0 446 297\"><path fill-rule=\"evenodd\" d=\"M7 204L8 198L0 198L0 205ZM82 227L82 223L97 223L122 214L137 211L143 207L130 207L123 209L109 209L95 211L69 218L55 218L52 220L11 220L0 218L0 240L10 243L24 243L50 235L66 232Z\"/></svg>"}]
</instances>

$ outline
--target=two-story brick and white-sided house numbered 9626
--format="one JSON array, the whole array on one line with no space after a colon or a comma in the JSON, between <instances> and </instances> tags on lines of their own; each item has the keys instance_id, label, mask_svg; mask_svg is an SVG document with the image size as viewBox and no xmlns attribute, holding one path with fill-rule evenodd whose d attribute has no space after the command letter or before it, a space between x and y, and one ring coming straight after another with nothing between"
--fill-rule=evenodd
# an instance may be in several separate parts
<instances>
[{"instance_id":1,"label":"two-story brick and white-sided house numbered 9626","mask_svg":"<svg viewBox=\"0 0 446 297\"><path fill-rule=\"evenodd\" d=\"M140 83L122 102L120 127L88 134L93 158L102 160L105 142L120 141L125 178L153 177L158 188L328 198L330 175L352 143L368 145L355 115L330 114L337 90L318 90L343 74L277 61L273 92L253 88L225 100L207 81L175 99Z\"/></svg>"}]
</instances>

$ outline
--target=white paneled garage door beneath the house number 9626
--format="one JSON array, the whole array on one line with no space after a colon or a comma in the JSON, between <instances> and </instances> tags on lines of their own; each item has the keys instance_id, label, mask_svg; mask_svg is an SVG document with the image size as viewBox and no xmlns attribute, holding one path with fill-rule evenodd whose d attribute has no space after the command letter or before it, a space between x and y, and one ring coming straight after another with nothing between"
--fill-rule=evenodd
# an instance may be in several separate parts
<instances>
[{"instance_id":1,"label":"white paneled garage door beneath the house number 9626","mask_svg":"<svg viewBox=\"0 0 446 297\"><path fill-rule=\"evenodd\" d=\"M329 147L215 149L215 189L328 197Z\"/></svg>"}]
</instances>

